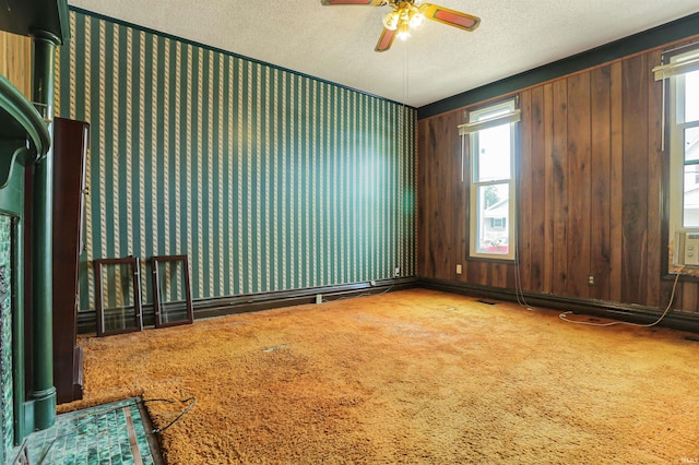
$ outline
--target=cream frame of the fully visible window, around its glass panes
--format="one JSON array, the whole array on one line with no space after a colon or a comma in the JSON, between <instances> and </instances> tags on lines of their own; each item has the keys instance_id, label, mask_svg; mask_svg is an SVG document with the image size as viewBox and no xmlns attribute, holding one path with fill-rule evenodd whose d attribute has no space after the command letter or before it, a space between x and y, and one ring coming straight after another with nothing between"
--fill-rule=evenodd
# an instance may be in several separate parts
<instances>
[{"instance_id":1,"label":"cream frame of the fully visible window, around its glass panes","mask_svg":"<svg viewBox=\"0 0 699 465\"><path fill-rule=\"evenodd\" d=\"M497 116L488 118L488 115ZM467 165L469 172L469 214L466 215L466 220L469 223L469 259L513 262L517 258L517 160L519 158L519 126L517 122L520 120L520 115L521 111L519 109L519 99L517 96L508 97L502 100L467 110L465 114L467 122L459 127L460 134L467 136L467 140L464 141L464 145L467 147L467 153L470 154L467 157L467 164L464 163L464 168L466 168ZM510 132L509 177L481 181L477 179L479 162L479 153L477 151L478 132L502 124L509 124ZM508 191L508 216L505 218L503 228L507 231L507 253L479 250L479 228L484 224L484 219L481 216L481 210L478 207L478 191L483 187L498 184L507 184ZM499 218L499 220L502 222L502 218Z\"/></svg>"}]
</instances>

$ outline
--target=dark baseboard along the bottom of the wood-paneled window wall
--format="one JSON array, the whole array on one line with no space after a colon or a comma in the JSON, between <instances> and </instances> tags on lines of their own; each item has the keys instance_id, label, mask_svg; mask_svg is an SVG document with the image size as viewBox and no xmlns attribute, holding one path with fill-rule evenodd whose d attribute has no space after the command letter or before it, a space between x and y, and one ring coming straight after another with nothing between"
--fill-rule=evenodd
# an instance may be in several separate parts
<instances>
[{"instance_id":1,"label":"dark baseboard along the bottom of the wood-paneled window wall","mask_svg":"<svg viewBox=\"0 0 699 465\"><path fill-rule=\"evenodd\" d=\"M562 297L532 291L519 293L518 299L518 291L516 289L425 277L417 279L416 287L512 302L520 301L523 298L528 305L534 307L572 311L573 313L583 313L640 324L653 323L665 310L649 306L624 305L607 300ZM677 310L671 311L657 325L699 333L699 314Z\"/></svg>"}]
</instances>

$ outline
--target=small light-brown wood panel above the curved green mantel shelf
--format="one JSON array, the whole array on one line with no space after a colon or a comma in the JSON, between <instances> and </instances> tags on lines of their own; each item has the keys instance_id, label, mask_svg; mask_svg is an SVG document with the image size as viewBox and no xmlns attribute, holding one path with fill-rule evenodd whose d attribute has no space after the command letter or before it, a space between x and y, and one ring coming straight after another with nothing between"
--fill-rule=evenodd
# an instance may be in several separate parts
<instances>
[{"instance_id":1,"label":"small light-brown wood panel above the curved green mantel shelf","mask_svg":"<svg viewBox=\"0 0 699 465\"><path fill-rule=\"evenodd\" d=\"M0 31L0 74L31 99L32 40L28 37Z\"/></svg>"}]
</instances>

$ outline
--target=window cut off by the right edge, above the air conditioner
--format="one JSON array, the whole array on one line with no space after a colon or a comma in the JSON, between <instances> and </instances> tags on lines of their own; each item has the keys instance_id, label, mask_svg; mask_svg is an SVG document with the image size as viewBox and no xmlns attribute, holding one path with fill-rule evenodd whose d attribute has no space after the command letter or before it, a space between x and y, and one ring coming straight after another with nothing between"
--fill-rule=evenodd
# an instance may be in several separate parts
<instances>
[{"instance_id":1,"label":"window cut off by the right edge, above the air conditioner","mask_svg":"<svg viewBox=\"0 0 699 465\"><path fill-rule=\"evenodd\" d=\"M670 99L670 237L699 228L699 48L667 53L656 79L667 79Z\"/></svg>"}]
</instances>

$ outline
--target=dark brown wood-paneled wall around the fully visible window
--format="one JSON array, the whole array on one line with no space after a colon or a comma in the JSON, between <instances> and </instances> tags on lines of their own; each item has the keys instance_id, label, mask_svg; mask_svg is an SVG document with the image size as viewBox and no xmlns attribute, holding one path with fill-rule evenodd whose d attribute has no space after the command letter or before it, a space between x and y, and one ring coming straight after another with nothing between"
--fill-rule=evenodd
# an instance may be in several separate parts
<instances>
[{"instance_id":1,"label":"dark brown wood-paneled wall around the fully visible window","mask_svg":"<svg viewBox=\"0 0 699 465\"><path fill-rule=\"evenodd\" d=\"M465 108L419 120L418 275L664 308L673 285L663 278L661 238L667 160L663 86L651 72L661 51L518 93L519 267L466 259L469 191L457 129ZM696 312L697 295L696 282L680 282L675 308Z\"/></svg>"}]
</instances>

